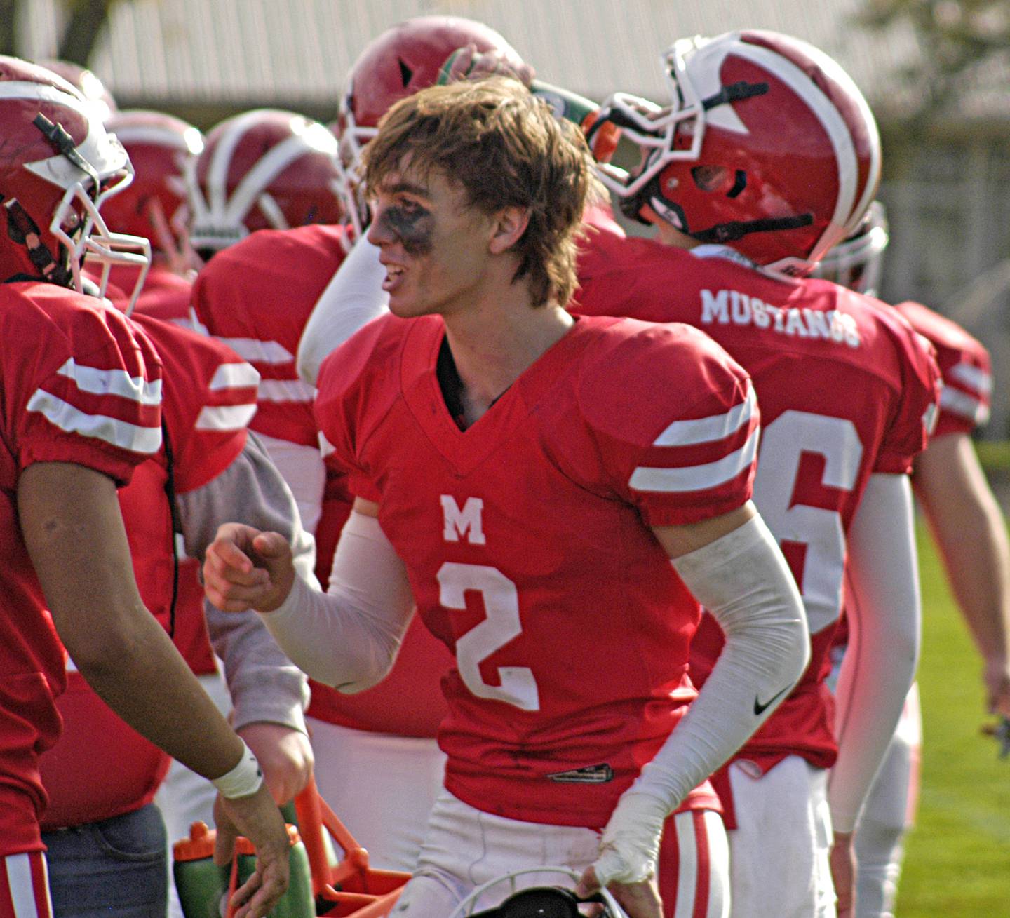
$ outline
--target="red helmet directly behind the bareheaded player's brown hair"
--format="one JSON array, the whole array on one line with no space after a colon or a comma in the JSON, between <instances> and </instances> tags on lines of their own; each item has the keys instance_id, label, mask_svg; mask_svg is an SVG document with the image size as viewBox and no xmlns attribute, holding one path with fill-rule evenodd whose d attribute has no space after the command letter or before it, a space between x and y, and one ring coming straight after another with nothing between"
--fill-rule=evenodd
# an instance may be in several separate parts
<instances>
[{"instance_id":1,"label":"red helmet directly behind the bareheaded player's brown hair","mask_svg":"<svg viewBox=\"0 0 1010 918\"><path fill-rule=\"evenodd\" d=\"M386 29L358 56L347 75L335 131L340 138L341 194L360 237L368 224L362 193L362 149L395 102L434 86L452 54L473 44L504 69L527 71L519 53L488 25L461 16L415 16Z\"/></svg>"}]
</instances>

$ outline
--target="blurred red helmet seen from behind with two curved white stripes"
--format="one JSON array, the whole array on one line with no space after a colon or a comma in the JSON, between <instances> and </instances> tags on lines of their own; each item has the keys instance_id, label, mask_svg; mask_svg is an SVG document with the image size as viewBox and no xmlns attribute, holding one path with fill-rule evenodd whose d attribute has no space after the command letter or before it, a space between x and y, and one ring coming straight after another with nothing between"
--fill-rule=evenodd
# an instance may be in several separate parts
<instances>
[{"instance_id":1,"label":"blurred red helmet seen from behind with two curved white stripes","mask_svg":"<svg viewBox=\"0 0 1010 918\"><path fill-rule=\"evenodd\" d=\"M343 220L336 138L325 125L258 108L205 139L186 169L189 240L204 261L256 229Z\"/></svg>"}]
</instances>

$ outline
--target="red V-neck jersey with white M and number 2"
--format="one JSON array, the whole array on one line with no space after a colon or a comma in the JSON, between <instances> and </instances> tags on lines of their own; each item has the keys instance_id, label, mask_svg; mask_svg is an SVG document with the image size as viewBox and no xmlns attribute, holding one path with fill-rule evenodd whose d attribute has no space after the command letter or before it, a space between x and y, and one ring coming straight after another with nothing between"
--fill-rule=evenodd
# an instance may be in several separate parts
<instances>
[{"instance_id":1,"label":"red V-neck jersey with white M and number 2","mask_svg":"<svg viewBox=\"0 0 1010 918\"><path fill-rule=\"evenodd\" d=\"M445 787L602 826L695 697L700 610L648 527L749 498L750 384L685 325L582 318L461 431L443 335L434 316L367 325L323 364L320 426L456 655Z\"/></svg>"}]
</instances>

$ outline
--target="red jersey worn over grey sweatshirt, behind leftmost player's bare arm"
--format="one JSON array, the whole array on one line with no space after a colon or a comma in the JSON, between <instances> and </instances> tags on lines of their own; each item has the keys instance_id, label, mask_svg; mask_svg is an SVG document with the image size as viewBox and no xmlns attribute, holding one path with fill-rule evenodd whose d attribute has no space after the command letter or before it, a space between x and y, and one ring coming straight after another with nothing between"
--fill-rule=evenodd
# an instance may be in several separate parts
<instances>
[{"instance_id":1,"label":"red jersey worn over grey sweatshirt, behind leftmost player's bare arm","mask_svg":"<svg viewBox=\"0 0 1010 918\"><path fill-rule=\"evenodd\" d=\"M258 378L248 364L219 341L142 314L134 314L132 321L162 355L167 437L159 454L141 465L119 492L119 504L140 596L168 628L175 535L166 491L166 446L172 451L175 493L185 494L213 481L245 444L246 424L256 411ZM180 586L177 629L205 633L202 593L193 595L188 581L181 580ZM59 703L68 729L42 756L42 780L49 795L45 827L132 812L152 800L169 763L164 752L120 721L83 680L72 680L73 691ZM94 760L99 735L103 738L97 745L109 754L114 750L114 768ZM81 775L82 761L89 762L87 776Z\"/></svg>"}]
</instances>

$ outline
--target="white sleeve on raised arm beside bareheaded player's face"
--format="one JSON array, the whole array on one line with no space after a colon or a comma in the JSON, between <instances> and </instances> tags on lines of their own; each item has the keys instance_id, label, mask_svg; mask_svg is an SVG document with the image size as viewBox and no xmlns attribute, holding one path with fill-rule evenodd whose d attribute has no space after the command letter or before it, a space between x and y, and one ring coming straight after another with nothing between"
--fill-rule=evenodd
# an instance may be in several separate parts
<instances>
[{"instance_id":1,"label":"white sleeve on raised arm beside bareheaded player's face","mask_svg":"<svg viewBox=\"0 0 1010 918\"><path fill-rule=\"evenodd\" d=\"M298 375L306 383L314 386L329 352L386 311L385 277L379 247L359 239L326 285L298 342Z\"/></svg>"}]
</instances>

